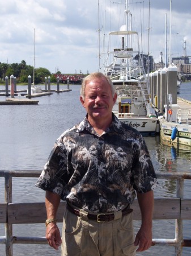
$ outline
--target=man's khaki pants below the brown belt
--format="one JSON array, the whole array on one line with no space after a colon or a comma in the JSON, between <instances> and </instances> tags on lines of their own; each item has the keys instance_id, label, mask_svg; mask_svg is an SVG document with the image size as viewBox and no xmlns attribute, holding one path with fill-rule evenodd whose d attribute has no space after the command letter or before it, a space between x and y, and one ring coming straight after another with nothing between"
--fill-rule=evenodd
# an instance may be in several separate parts
<instances>
[{"instance_id":1,"label":"man's khaki pants below the brown belt","mask_svg":"<svg viewBox=\"0 0 191 256\"><path fill-rule=\"evenodd\" d=\"M62 253L68 256L135 256L132 213L121 217L121 211L109 222L88 220L65 210L62 229Z\"/></svg>"}]
</instances>

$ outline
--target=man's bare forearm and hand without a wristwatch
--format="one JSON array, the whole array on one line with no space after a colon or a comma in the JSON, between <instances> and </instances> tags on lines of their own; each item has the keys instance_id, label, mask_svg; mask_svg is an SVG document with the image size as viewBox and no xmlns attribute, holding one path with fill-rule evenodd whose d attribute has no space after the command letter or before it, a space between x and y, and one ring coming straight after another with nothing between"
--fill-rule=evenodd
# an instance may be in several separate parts
<instances>
[{"instance_id":1,"label":"man's bare forearm and hand without a wristwatch","mask_svg":"<svg viewBox=\"0 0 191 256\"><path fill-rule=\"evenodd\" d=\"M137 251L147 250L152 243L152 212L154 209L154 193L148 191L146 193L137 192L137 199L141 209L142 224L137 236L135 237L135 246L139 246Z\"/></svg>"}]
</instances>

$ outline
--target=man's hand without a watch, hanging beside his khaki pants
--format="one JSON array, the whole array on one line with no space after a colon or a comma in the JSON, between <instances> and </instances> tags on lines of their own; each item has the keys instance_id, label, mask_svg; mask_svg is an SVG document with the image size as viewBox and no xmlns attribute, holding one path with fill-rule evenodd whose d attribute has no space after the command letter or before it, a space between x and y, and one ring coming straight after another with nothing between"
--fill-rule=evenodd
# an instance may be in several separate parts
<instances>
[{"instance_id":1,"label":"man's hand without a watch, hanging beside his khaki pants","mask_svg":"<svg viewBox=\"0 0 191 256\"><path fill-rule=\"evenodd\" d=\"M151 247L152 244L152 229L143 228L139 229L135 237L135 246L139 246L137 251L145 251Z\"/></svg>"}]
</instances>

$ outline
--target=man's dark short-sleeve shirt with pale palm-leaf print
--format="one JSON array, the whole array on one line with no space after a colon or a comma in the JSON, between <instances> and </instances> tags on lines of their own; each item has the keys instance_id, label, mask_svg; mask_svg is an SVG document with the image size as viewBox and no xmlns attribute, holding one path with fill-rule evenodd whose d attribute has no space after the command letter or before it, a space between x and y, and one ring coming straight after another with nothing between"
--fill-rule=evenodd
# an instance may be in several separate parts
<instances>
[{"instance_id":1,"label":"man's dark short-sleeve shirt with pale palm-leaf print","mask_svg":"<svg viewBox=\"0 0 191 256\"><path fill-rule=\"evenodd\" d=\"M88 212L116 212L132 203L135 190L158 181L142 135L113 115L101 136L87 117L54 144L36 184Z\"/></svg>"}]
</instances>

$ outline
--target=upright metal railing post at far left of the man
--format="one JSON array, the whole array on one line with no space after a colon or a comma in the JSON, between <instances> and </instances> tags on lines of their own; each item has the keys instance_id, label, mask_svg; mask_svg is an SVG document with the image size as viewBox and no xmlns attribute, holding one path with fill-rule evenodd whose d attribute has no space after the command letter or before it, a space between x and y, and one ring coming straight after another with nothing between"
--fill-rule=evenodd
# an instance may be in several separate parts
<instances>
[{"instance_id":1,"label":"upright metal railing post at far left of the man","mask_svg":"<svg viewBox=\"0 0 191 256\"><path fill-rule=\"evenodd\" d=\"M9 173L5 174L5 202L12 203L12 177ZM5 238L6 256L12 256L12 224L5 224Z\"/></svg>"}]
</instances>

